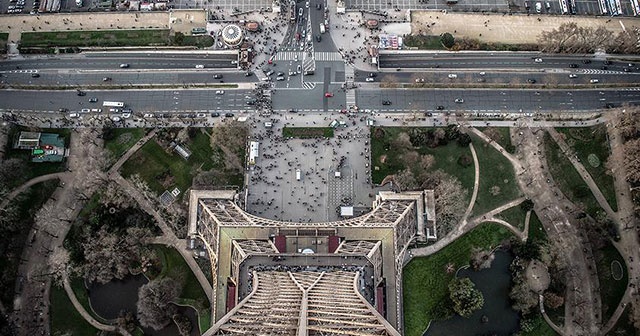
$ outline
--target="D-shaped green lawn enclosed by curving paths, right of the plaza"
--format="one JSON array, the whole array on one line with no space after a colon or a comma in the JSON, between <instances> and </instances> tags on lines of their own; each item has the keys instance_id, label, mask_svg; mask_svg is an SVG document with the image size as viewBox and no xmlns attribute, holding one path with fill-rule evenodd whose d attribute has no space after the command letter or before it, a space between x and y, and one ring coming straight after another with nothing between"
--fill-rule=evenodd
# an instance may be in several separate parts
<instances>
[{"instance_id":1,"label":"D-shaped green lawn enclosed by curving paths, right of the plaza","mask_svg":"<svg viewBox=\"0 0 640 336\"><path fill-rule=\"evenodd\" d=\"M521 196L511 162L476 136L471 137L480 164L478 197L473 214L481 215Z\"/></svg>"}]
</instances>

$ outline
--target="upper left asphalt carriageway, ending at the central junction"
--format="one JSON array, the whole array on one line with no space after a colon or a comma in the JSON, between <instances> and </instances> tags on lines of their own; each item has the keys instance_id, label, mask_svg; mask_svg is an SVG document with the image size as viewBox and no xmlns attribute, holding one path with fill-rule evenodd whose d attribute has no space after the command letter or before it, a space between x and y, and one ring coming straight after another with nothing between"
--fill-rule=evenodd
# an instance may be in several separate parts
<instances>
[{"instance_id":1,"label":"upper left asphalt carriageway, ending at the central junction","mask_svg":"<svg viewBox=\"0 0 640 336\"><path fill-rule=\"evenodd\" d=\"M121 69L120 64L129 64L129 69L195 69L237 68L231 61L237 55L228 53L82 53L78 55L9 59L0 62L0 71L38 69Z\"/></svg>"}]
</instances>

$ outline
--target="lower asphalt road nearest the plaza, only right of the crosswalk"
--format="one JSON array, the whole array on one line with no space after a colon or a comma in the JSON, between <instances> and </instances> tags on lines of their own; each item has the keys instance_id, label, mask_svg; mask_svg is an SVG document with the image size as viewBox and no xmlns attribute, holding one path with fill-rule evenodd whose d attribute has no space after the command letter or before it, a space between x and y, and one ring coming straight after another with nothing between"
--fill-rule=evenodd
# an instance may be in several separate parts
<instances>
[{"instance_id":1,"label":"lower asphalt road nearest the plaza, only right of the crosswalk","mask_svg":"<svg viewBox=\"0 0 640 336\"><path fill-rule=\"evenodd\" d=\"M455 103L456 98L464 100ZM388 100L391 105L382 105ZM487 89L360 89L356 95L360 109L389 112L541 112L601 109L607 104L640 104L640 90L487 90Z\"/></svg>"}]
</instances>

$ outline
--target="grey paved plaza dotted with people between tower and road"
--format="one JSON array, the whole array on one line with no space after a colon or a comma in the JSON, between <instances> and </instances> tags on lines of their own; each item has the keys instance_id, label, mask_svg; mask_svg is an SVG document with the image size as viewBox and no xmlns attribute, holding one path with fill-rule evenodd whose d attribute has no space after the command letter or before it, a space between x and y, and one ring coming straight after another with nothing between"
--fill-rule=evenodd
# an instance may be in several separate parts
<instances>
[{"instance_id":1,"label":"grey paved plaza dotted with people between tower and road","mask_svg":"<svg viewBox=\"0 0 640 336\"><path fill-rule=\"evenodd\" d=\"M260 142L260 154L247 172L247 211L285 221L322 222L338 219L340 205L370 207L374 191L369 182L369 129L364 121L351 119L348 127L336 128L331 139L283 139L285 118L296 116L281 114L279 119L285 122L275 122L270 129L264 127L270 117L256 122L253 137ZM326 126L331 120L306 124Z\"/></svg>"}]
</instances>

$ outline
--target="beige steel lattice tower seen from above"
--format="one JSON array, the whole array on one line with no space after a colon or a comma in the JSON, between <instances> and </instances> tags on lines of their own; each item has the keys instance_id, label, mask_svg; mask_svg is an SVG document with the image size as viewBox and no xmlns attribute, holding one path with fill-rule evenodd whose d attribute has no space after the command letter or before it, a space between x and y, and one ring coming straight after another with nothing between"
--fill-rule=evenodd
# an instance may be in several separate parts
<instances>
[{"instance_id":1,"label":"beige steel lattice tower seen from above","mask_svg":"<svg viewBox=\"0 0 640 336\"><path fill-rule=\"evenodd\" d=\"M189 237L203 242L213 275L217 322L205 335L400 335L403 260L410 243L425 239L425 221L433 216L425 192L380 192L371 212L323 223L261 218L240 208L238 197L229 190L190 192ZM339 244L317 258L334 263L344 256L370 265L369 271L247 269L273 256L304 259L295 258L300 249L283 251L276 236L314 243L337 238ZM267 259L255 258L260 255Z\"/></svg>"}]
</instances>

